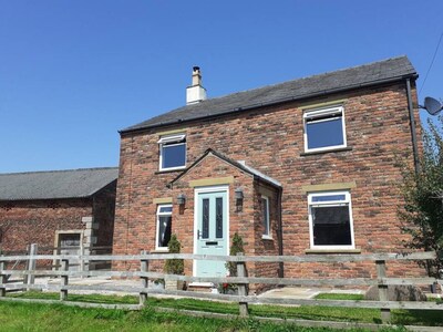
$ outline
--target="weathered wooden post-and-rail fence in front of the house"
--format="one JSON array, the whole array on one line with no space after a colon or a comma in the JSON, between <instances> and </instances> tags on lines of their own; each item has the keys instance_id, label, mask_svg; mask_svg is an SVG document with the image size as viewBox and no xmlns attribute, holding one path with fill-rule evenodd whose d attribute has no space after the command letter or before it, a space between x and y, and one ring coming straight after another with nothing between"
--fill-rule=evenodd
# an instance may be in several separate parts
<instances>
[{"instance_id":1,"label":"weathered wooden post-and-rail fence in front of the house","mask_svg":"<svg viewBox=\"0 0 443 332\"><path fill-rule=\"evenodd\" d=\"M54 270L35 270L34 263L28 263L31 269L28 270L8 270L7 266L17 260L60 260L61 269ZM150 271L150 262L153 260L166 259L184 259L184 260L216 260L225 262L235 262L237 264L237 277L192 277L166 274ZM6 282L6 276L16 277L58 277L61 279L60 284L48 284L44 289L60 292L60 301L66 301L69 291L89 290L89 291L119 291L126 293L137 293L140 295L140 307L142 307L150 294L169 294L197 299L225 300L239 304L239 315L248 315L248 304L266 303L266 304L299 304L299 305L321 305L321 307L342 307L342 308L372 308L380 309L383 323L390 322L391 309L410 309L410 310L443 310L442 303L436 302L415 302L415 301L389 301L388 286L423 286L440 283L443 280L434 278L388 278L387 261L404 261L404 260L434 260L435 252L412 252L412 253L375 253L375 255L315 255L315 256L206 256L206 255L188 255L188 253L146 253L141 255L117 256L117 255L89 255L89 256L70 256L70 255L34 255L30 256L0 256L0 298L6 297L9 289L17 289L17 284ZM138 271L70 271L70 260L75 261L140 261ZM302 263L302 262L360 262L372 261L377 267L377 279L372 278L354 278L354 279L296 279L296 278L262 278L247 277L246 266L248 262L281 262L281 263ZM140 278L140 287L127 287L116 284L70 284L72 277L106 277L106 278ZM216 284L229 283L236 284L238 294L220 294L209 292L189 292L184 290L164 290L148 288L148 280L164 279L177 280L186 282L212 282ZM247 293L249 284L270 284L270 286L305 286L305 287L369 287L377 286L379 290L380 301L352 301L352 300L318 300L318 299L282 299L282 298L264 298L249 295ZM23 284L24 289L42 289L41 284ZM68 304L68 302L65 302ZM72 304L72 303L71 303ZM87 304L91 305L91 304ZM105 305L101 305L105 307ZM132 305L134 307L134 305ZM115 305L112 305L115 308ZM138 307L137 307L138 308Z\"/></svg>"}]
</instances>

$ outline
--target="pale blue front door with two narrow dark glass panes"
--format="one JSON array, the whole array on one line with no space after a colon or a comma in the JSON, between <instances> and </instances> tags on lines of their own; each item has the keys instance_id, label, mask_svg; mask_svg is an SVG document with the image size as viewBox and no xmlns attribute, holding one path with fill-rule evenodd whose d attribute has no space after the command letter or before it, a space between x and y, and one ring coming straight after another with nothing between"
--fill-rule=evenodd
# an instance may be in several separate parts
<instances>
[{"instance_id":1,"label":"pale blue front door with two narrow dark glass panes","mask_svg":"<svg viewBox=\"0 0 443 332\"><path fill-rule=\"evenodd\" d=\"M220 255L228 253L228 208L227 190L196 191L196 253ZM196 260L197 277L225 277L224 261Z\"/></svg>"}]
</instances>

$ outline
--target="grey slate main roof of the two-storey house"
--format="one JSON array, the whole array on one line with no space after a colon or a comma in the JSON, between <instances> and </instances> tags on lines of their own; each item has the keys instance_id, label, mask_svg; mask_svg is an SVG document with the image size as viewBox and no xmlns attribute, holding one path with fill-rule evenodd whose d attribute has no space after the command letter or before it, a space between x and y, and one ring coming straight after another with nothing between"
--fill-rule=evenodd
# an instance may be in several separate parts
<instances>
[{"instance_id":1,"label":"grey slate main roof of the two-storey house","mask_svg":"<svg viewBox=\"0 0 443 332\"><path fill-rule=\"evenodd\" d=\"M127 127L121 133L241 112L264 105L377 85L412 76L416 76L416 71L406 56L391 58L360 66L208 98L155 116Z\"/></svg>"}]
</instances>

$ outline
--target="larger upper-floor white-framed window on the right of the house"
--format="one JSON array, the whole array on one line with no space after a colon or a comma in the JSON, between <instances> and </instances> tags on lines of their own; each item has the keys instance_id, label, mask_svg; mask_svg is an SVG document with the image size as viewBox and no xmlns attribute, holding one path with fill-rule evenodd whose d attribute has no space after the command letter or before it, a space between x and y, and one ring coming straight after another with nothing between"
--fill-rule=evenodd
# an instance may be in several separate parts
<instances>
[{"instance_id":1,"label":"larger upper-floor white-framed window on the right of the house","mask_svg":"<svg viewBox=\"0 0 443 332\"><path fill-rule=\"evenodd\" d=\"M307 111L303 114L305 152L346 147L344 114L342 106Z\"/></svg>"}]
</instances>

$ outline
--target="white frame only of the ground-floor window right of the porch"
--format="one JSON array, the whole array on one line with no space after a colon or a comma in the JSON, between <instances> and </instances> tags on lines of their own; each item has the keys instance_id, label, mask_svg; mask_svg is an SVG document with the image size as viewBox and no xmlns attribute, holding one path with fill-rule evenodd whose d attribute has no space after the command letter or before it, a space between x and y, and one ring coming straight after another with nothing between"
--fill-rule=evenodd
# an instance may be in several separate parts
<instances>
[{"instance_id":1,"label":"white frame only of the ground-floor window right of the porch","mask_svg":"<svg viewBox=\"0 0 443 332\"><path fill-rule=\"evenodd\" d=\"M312 201L312 197L319 196L331 196L331 195L344 195L344 200L328 200L328 201ZM351 232L351 245L349 246L316 246L313 243L313 222L312 222L312 214L311 207L313 206L348 206L349 208L349 227ZM308 215L309 215L309 238L310 238L310 248L311 249L356 249L356 242L353 237L353 219L352 219L352 203L351 203L351 193L349 190L339 190L339 191L317 191L317 193L308 193Z\"/></svg>"}]
</instances>

